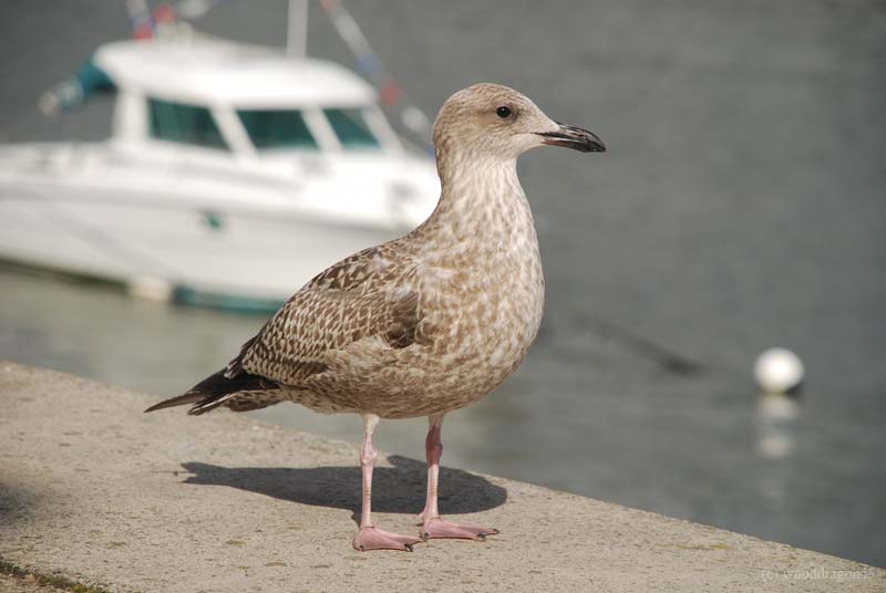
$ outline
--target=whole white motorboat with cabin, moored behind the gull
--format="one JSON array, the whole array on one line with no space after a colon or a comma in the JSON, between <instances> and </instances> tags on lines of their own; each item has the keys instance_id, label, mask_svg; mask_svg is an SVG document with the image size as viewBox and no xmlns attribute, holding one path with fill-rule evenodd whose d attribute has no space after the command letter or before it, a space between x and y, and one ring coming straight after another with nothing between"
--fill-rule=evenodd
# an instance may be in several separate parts
<instances>
[{"instance_id":1,"label":"whole white motorboat with cabin, moored behind the gull","mask_svg":"<svg viewBox=\"0 0 886 593\"><path fill-rule=\"evenodd\" d=\"M440 186L343 66L204 38L102 45L113 135L0 147L0 258L215 304L288 298Z\"/></svg>"}]
</instances>

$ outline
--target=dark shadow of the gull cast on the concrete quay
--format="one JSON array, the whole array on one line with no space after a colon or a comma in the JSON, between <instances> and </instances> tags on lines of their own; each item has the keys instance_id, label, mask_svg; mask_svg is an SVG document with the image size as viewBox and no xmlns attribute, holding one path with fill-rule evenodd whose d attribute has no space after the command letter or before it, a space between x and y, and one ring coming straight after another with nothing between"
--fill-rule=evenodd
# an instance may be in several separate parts
<instances>
[{"instance_id":1,"label":"dark shadow of the gull cast on the concrete quay","mask_svg":"<svg viewBox=\"0 0 886 593\"><path fill-rule=\"evenodd\" d=\"M392 455L393 467L375 467L372 475L372 510L419 513L424 506L426 466ZM362 481L358 466L343 467L222 467L198 461L182 464L189 476L184 483L229 486L280 500L347 509L360 514ZM470 513L494 509L507 500L507 490L486 478L461 469L440 469L440 510Z\"/></svg>"}]
</instances>

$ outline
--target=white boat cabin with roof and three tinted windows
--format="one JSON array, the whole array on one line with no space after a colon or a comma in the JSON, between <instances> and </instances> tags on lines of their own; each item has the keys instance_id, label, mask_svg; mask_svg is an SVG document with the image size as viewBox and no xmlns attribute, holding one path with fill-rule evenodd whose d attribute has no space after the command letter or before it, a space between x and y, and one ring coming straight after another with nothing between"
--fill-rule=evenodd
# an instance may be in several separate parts
<instances>
[{"instance_id":1,"label":"white boat cabin with roof and three tinted windows","mask_svg":"<svg viewBox=\"0 0 886 593\"><path fill-rule=\"evenodd\" d=\"M94 64L117 90L114 138L124 144L245 159L403 152L375 90L333 62L190 39L109 43Z\"/></svg>"}]
</instances>

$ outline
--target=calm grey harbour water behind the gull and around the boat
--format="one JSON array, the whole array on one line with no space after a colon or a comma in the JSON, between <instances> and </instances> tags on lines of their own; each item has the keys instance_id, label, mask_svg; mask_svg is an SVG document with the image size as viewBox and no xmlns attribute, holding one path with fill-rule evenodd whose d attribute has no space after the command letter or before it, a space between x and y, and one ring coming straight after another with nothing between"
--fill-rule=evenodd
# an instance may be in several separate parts
<instances>
[{"instance_id":1,"label":"calm grey harbour water behind the gull and around the boat","mask_svg":"<svg viewBox=\"0 0 886 593\"><path fill-rule=\"evenodd\" d=\"M544 332L503 388L451 415L444 461L886 565L884 4L349 6L426 112L497 81L609 147L522 160ZM282 42L282 11L227 2L197 25ZM126 34L122 9L2 3L0 33L0 139L107 134L106 101L47 121L35 98ZM316 7L311 35L352 63ZM0 274L0 356L163 395L264 321L18 273ZM773 345L800 354L807 389L796 418L761 423L750 367ZM296 406L260 416L360 433ZM421 457L423 434L384 423L379 439Z\"/></svg>"}]
</instances>

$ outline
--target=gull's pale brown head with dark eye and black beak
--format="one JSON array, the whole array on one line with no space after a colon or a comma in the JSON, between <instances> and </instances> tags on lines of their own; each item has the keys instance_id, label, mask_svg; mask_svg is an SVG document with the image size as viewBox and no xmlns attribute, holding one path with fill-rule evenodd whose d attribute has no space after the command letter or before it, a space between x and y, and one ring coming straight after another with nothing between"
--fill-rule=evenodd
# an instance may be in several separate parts
<instances>
[{"instance_id":1,"label":"gull's pale brown head with dark eye and black beak","mask_svg":"<svg viewBox=\"0 0 886 593\"><path fill-rule=\"evenodd\" d=\"M543 145L606 150L594 133L555 122L526 95L501 84L459 91L446 100L434 123L437 153L513 159Z\"/></svg>"}]
</instances>

